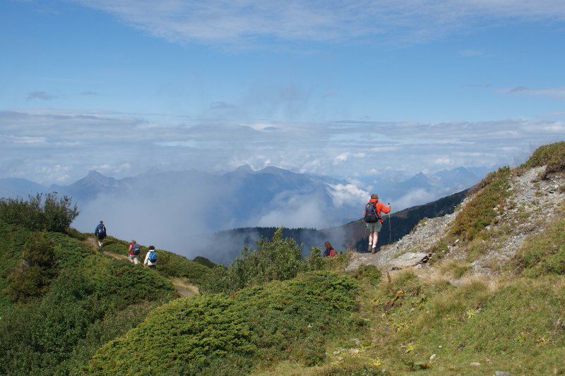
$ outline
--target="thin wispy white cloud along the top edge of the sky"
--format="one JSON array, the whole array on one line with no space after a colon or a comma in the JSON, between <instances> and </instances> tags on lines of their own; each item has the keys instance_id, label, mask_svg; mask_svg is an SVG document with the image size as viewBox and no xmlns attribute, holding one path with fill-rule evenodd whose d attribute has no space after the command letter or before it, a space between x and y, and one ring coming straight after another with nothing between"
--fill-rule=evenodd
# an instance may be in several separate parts
<instances>
[{"instance_id":1,"label":"thin wispy white cloud along the top edge of the sky","mask_svg":"<svg viewBox=\"0 0 565 376\"><path fill-rule=\"evenodd\" d=\"M75 0L173 42L420 42L480 25L564 20L561 0Z\"/></svg>"}]
</instances>

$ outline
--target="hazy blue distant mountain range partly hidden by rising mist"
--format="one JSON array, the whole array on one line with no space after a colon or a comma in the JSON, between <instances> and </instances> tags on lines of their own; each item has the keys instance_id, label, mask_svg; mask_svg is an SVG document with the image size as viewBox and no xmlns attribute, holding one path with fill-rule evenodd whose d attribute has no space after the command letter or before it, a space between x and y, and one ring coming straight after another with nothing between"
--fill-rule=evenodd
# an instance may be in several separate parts
<instances>
[{"instance_id":1,"label":"hazy blue distant mountain range partly hidden by rising mist","mask_svg":"<svg viewBox=\"0 0 565 376\"><path fill-rule=\"evenodd\" d=\"M276 167L253 171L242 166L223 174L149 171L121 179L90 171L68 186L0 178L0 195L57 191L78 202L81 214L73 226L81 231L93 231L104 219L109 233L121 238L136 238L192 257L198 250L218 260L203 250L218 248L226 240L206 234L257 226L331 228L358 219L373 191L379 192L381 201L393 202L393 211L398 211L473 186L486 173L486 168L458 168L406 179L384 174L352 182ZM231 246L224 248L231 252Z\"/></svg>"}]
</instances>

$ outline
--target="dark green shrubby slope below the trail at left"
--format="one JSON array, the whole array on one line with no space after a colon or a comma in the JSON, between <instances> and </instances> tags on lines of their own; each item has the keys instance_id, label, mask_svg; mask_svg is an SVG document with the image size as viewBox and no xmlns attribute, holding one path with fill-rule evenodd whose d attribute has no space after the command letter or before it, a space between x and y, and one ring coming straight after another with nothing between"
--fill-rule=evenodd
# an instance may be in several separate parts
<instances>
[{"instance_id":1,"label":"dark green shrubby slope below the trail at left","mask_svg":"<svg viewBox=\"0 0 565 376\"><path fill-rule=\"evenodd\" d=\"M0 289L33 234L0 222ZM206 273L202 265L165 251L159 251L160 262L168 267L165 272L134 267L92 250L85 234L70 234L48 234L59 260L59 277L42 298L14 304L0 293L0 374L76 374L102 344L177 297L163 274L198 283Z\"/></svg>"}]
</instances>

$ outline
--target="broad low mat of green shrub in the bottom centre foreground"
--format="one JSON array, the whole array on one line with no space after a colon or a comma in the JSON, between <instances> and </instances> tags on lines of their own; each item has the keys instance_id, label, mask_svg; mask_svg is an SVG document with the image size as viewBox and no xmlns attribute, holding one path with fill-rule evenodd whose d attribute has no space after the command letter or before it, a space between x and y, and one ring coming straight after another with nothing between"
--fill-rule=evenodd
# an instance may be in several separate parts
<instances>
[{"instance_id":1,"label":"broad low mat of green shrub in the bottom centre foreground","mask_svg":"<svg viewBox=\"0 0 565 376\"><path fill-rule=\"evenodd\" d=\"M237 375L277 360L315 365L325 358L326 339L357 310L356 289L350 277L309 272L232 298L179 299L100 348L88 372Z\"/></svg>"}]
</instances>

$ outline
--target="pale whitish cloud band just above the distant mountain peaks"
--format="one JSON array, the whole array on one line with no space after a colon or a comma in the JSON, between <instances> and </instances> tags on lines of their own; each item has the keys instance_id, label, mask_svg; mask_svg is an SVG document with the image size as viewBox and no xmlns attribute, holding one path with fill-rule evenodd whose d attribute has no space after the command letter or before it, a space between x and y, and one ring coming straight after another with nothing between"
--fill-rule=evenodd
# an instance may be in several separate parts
<instances>
[{"instance_id":1,"label":"pale whitish cloud band just above the distant mountain peaks","mask_svg":"<svg viewBox=\"0 0 565 376\"><path fill-rule=\"evenodd\" d=\"M249 164L356 178L508 164L537 145L564 138L565 121L557 119L236 123L0 111L0 177L66 183L90 169L121 177L149 169L225 171Z\"/></svg>"}]
</instances>

